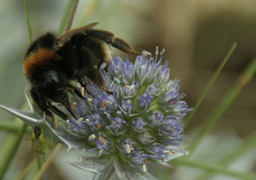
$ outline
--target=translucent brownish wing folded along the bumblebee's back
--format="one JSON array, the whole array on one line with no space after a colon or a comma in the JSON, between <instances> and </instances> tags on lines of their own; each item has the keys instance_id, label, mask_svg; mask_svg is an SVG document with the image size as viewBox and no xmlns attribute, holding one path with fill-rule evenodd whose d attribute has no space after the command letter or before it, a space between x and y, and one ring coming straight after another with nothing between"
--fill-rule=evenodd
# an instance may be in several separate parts
<instances>
[{"instance_id":1,"label":"translucent brownish wing folded along the bumblebee's back","mask_svg":"<svg viewBox=\"0 0 256 180\"><path fill-rule=\"evenodd\" d=\"M96 26L99 22L93 22L86 24L81 27L74 28L73 30L69 30L64 32L64 34L58 36L56 38L56 44L57 44L57 50L63 46L70 38L72 38L73 35L78 34L78 33L83 33L85 30L88 30L90 28L93 28L93 26Z\"/></svg>"}]
</instances>

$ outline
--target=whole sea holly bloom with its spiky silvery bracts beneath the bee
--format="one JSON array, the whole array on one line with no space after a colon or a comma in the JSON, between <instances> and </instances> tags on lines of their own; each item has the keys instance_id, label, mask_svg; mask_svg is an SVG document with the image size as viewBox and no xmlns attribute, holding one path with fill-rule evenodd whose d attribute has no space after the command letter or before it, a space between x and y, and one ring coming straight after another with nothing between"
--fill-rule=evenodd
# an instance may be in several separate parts
<instances>
[{"instance_id":1,"label":"whole sea holly bloom with its spiky silvery bracts beneath the bee","mask_svg":"<svg viewBox=\"0 0 256 180\"><path fill-rule=\"evenodd\" d=\"M155 58L144 51L135 64L113 56L108 72L102 73L113 94L88 79L85 96L74 94L70 99L78 119L70 117L66 128L52 129L31 104L29 112L2 108L32 127L40 126L45 136L52 131L68 150L81 150L78 161L69 162L73 166L97 174L108 174L115 167L120 179L155 179L147 173L148 161L167 162L187 154L177 148L187 138L179 120L192 111L182 101L179 80L168 79L163 52L158 59L158 48ZM85 151L95 156L82 155Z\"/></svg>"}]
</instances>

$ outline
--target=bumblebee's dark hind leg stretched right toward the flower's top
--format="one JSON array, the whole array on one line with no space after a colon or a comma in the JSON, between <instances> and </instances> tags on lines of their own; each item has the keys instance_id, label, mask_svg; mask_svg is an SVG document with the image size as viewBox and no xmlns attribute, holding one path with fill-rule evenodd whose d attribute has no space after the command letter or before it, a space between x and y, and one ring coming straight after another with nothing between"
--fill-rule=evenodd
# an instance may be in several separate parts
<instances>
[{"instance_id":1,"label":"bumblebee's dark hind leg stretched right toward the flower's top","mask_svg":"<svg viewBox=\"0 0 256 180\"><path fill-rule=\"evenodd\" d=\"M123 51L127 54L141 55L140 52L136 52L132 46L127 43L124 39L115 38L115 35L111 32L104 30L90 29L86 31L86 34L93 38L103 40L105 43L111 44L111 46Z\"/></svg>"}]
</instances>

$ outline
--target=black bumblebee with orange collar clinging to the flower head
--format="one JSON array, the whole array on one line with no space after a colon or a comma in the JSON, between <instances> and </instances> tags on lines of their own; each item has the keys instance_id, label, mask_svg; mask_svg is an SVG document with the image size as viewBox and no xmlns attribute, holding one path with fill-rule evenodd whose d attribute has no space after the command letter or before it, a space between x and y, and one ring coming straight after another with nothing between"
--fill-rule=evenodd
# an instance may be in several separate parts
<instances>
[{"instance_id":1,"label":"black bumblebee with orange collar clinging to the flower head","mask_svg":"<svg viewBox=\"0 0 256 180\"><path fill-rule=\"evenodd\" d=\"M127 54L141 55L125 40L115 38L111 32L93 29L98 23L74 28L60 36L46 32L34 40L26 52L23 70L31 83L31 97L38 109L52 118L53 123L53 113L63 120L67 120L68 115L52 105L52 102L64 105L76 118L66 91L71 80L76 80L81 87L86 88L88 77L103 91L112 93L105 88L100 72L101 64L112 60L108 52L109 44Z\"/></svg>"}]
</instances>

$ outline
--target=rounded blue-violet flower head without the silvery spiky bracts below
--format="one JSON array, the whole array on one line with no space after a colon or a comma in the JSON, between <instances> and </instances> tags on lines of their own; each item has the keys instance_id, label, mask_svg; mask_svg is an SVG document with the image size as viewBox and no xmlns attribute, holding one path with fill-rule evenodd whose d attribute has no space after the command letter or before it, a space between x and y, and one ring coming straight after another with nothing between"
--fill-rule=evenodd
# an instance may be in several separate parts
<instances>
[{"instance_id":1,"label":"rounded blue-violet flower head without the silvery spiky bracts below","mask_svg":"<svg viewBox=\"0 0 256 180\"><path fill-rule=\"evenodd\" d=\"M82 121L70 119L70 129L88 140L87 152L114 156L144 171L148 161L166 162L174 154L186 138L179 120L192 109L182 101L179 80L169 80L163 52L159 60L158 49L155 58L143 52L134 65L113 56L108 72L103 71L105 87L113 94L89 80L88 95L72 99Z\"/></svg>"}]
</instances>

